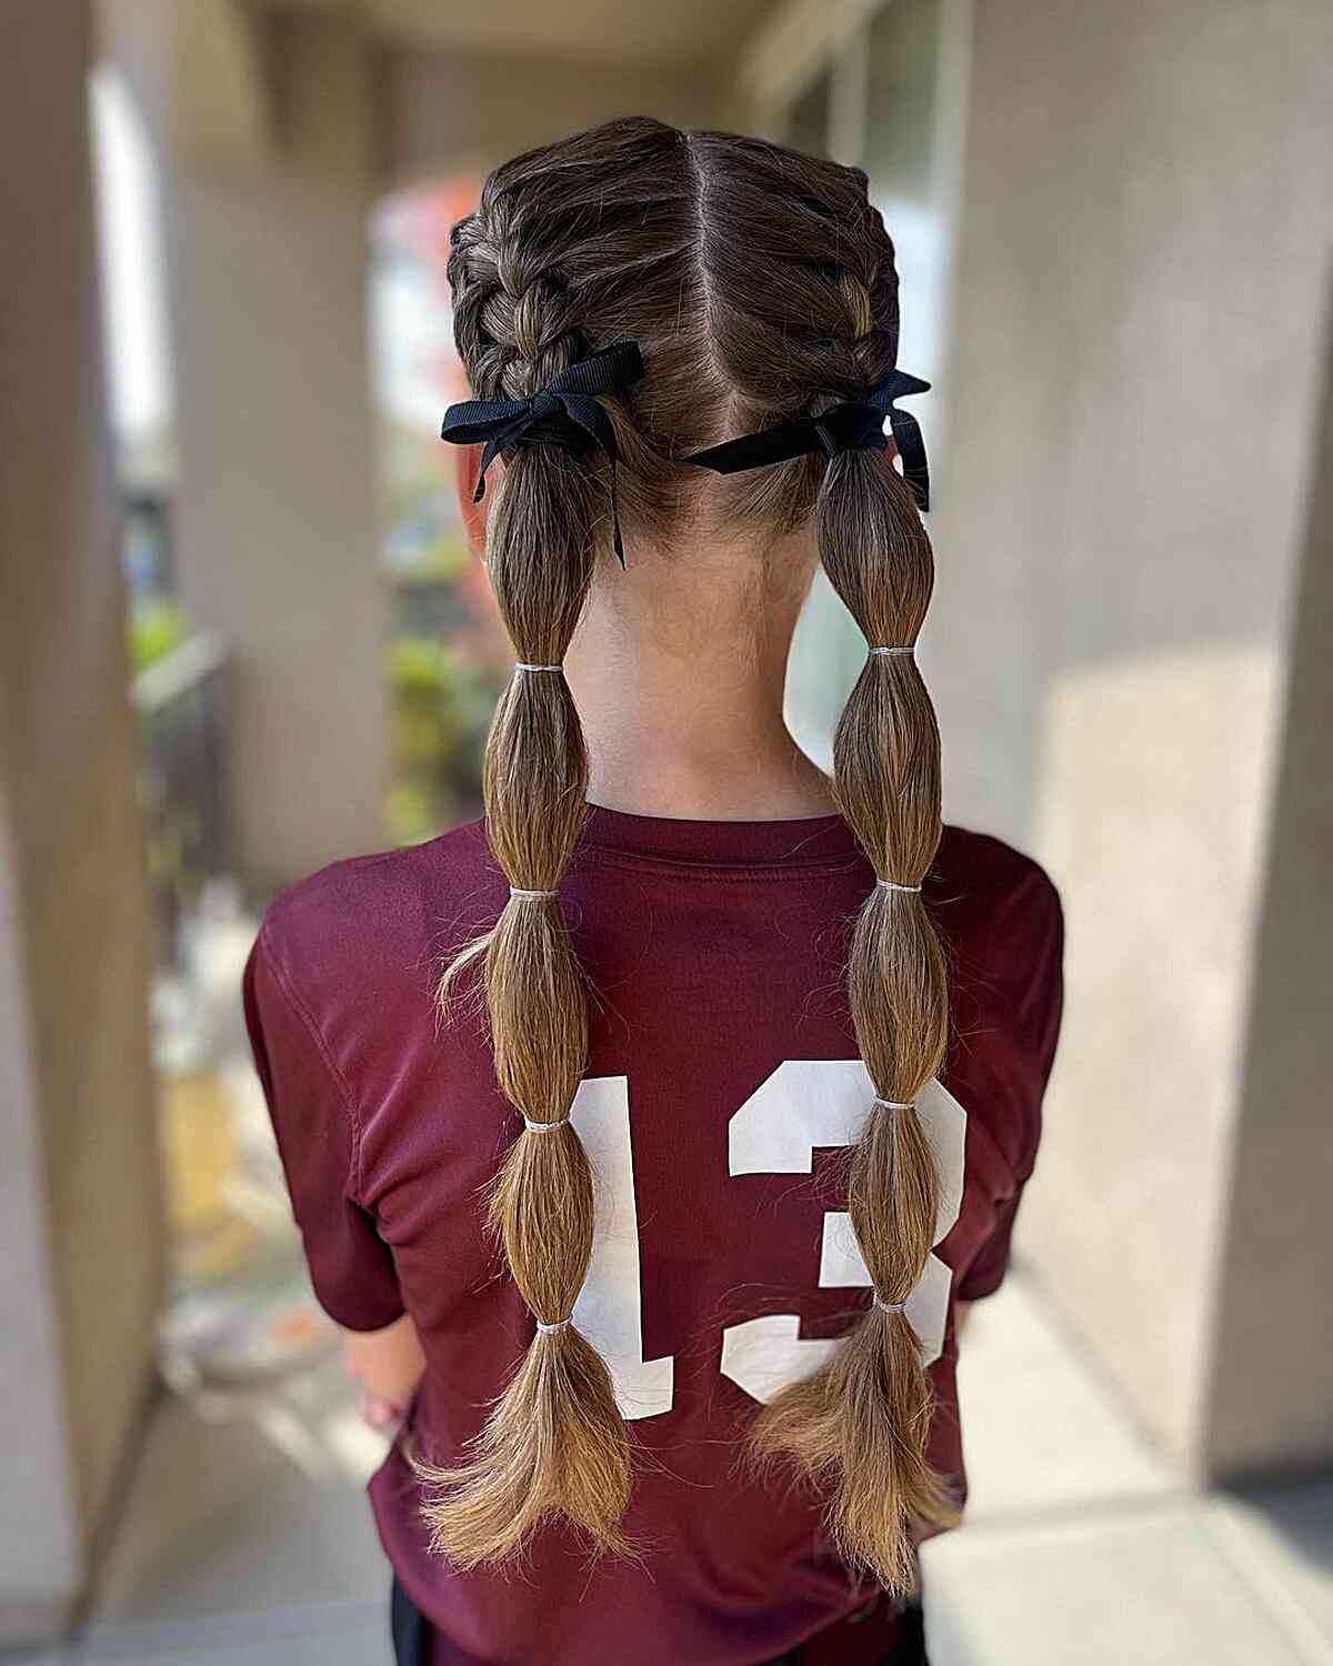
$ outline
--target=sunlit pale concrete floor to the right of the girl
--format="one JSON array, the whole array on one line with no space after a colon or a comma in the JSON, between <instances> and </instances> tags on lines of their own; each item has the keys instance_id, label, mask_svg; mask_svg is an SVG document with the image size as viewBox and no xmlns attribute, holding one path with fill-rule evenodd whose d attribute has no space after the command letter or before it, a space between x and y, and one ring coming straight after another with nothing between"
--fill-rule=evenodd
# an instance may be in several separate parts
<instances>
[{"instance_id":1,"label":"sunlit pale concrete floor to the right of the girl","mask_svg":"<svg viewBox=\"0 0 1333 1666\"><path fill-rule=\"evenodd\" d=\"M973 1323L935 1666L1333 1666L1333 1481L1186 1493L1021 1278Z\"/></svg>"}]
</instances>

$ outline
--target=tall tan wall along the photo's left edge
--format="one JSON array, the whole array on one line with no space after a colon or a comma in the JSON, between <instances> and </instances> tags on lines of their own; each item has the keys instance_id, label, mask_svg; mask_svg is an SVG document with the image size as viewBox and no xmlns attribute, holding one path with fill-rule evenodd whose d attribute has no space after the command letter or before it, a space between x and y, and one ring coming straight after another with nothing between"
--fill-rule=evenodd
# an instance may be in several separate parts
<instances>
[{"instance_id":1,"label":"tall tan wall along the photo's left edge","mask_svg":"<svg viewBox=\"0 0 1333 1666\"><path fill-rule=\"evenodd\" d=\"M0 57L0 1643L83 1584L162 1279L87 52L60 0Z\"/></svg>"}]
</instances>

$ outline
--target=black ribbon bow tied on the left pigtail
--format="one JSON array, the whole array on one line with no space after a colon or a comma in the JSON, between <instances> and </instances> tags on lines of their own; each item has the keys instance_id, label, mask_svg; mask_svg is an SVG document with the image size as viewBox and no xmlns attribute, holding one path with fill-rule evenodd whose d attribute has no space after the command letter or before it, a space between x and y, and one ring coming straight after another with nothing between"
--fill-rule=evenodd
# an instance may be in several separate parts
<instances>
[{"instance_id":1,"label":"black ribbon bow tied on the left pigtail","mask_svg":"<svg viewBox=\"0 0 1333 1666\"><path fill-rule=\"evenodd\" d=\"M595 445L610 465L612 531L617 560L623 566L625 545L620 541L620 511L615 498L615 465L620 450L612 418L598 405L597 395L620 393L642 377L643 355L638 342L613 342L600 353L580 358L577 365L562 370L545 388L528 393L527 398L463 400L460 405L450 405L440 438L450 445L485 446L472 501L482 501L487 470L507 445L568 445L575 450Z\"/></svg>"}]
</instances>

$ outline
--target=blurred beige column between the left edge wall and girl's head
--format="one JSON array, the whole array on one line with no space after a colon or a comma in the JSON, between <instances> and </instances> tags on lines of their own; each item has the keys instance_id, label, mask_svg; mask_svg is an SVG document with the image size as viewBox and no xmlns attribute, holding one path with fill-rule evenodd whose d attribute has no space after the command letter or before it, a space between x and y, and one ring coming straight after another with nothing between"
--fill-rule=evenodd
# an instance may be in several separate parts
<instances>
[{"instance_id":1,"label":"blurred beige column between the left edge wall and girl's head","mask_svg":"<svg viewBox=\"0 0 1333 1666\"><path fill-rule=\"evenodd\" d=\"M267 47L258 163L218 158L217 133L192 147L180 92L163 123L177 575L190 616L235 655L238 860L263 885L383 845L388 746L367 363L373 62L340 17L293 18Z\"/></svg>"}]
</instances>

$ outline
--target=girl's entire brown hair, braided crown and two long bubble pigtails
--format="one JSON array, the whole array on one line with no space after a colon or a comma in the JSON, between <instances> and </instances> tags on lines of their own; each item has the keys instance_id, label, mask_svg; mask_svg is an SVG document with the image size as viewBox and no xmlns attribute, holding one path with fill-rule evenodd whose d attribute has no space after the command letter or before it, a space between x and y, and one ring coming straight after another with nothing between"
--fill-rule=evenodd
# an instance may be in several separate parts
<instances>
[{"instance_id":1,"label":"girl's entire brown hair, braided crown and two long bubble pigtails","mask_svg":"<svg viewBox=\"0 0 1333 1666\"><path fill-rule=\"evenodd\" d=\"M753 138L622 120L498 168L453 232L455 337L480 398L533 393L608 343L648 367L605 408L620 448L630 561L638 536L708 513L756 531L815 516L823 566L870 645L910 645L931 590L911 496L876 451L796 458L703 486L693 450L865 393L898 345L893 245L866 178ZM610 556L602 453L507 453L488 531L500 613L520 661L558 665ZM627 581L610 568L608 581ZM628 580L632 581L632 580ZM492 850L510 886L557 891L585 808L583 736L560 671L518 671L487 746ZM875 873L915 886L940 838L940 743L908 655L875 655L838 723L838 805ZM547 1518L627 1549L630 1453L610 1374L573 1309L592 1253L592 1175L568 1121L585 1065L587 995L557 896L512 896L442 983L480 961L495 1063L525 1116L490 1198L538 1319L462 1466L422 1464L438 1551L503 1561ZM953 1519L925 1459L930 1384L901 1311L935 1236L938 1178L911 1101L941 1063L948 1013L935 928L911 890L875 886L855 925L848 993L875 1093L850 1155L848 1211L876 1303L831 1361L753 1426L828 1496L848 1559L906 1589L913 1523ZM558 1125L533 1131L532 1125ZM548 1328L543 1328L548 1326Z\"/></svg>"}]
</instances>

